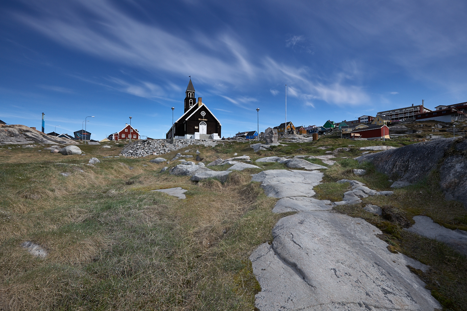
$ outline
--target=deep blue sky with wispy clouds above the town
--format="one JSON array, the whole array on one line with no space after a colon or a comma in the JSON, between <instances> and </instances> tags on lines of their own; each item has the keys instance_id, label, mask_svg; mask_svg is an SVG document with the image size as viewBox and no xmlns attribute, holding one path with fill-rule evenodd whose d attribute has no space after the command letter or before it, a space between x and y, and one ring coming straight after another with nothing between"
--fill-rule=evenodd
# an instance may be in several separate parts
<instances>
[{"instance_id":1,"label":"deep blue sky with wispy clouds above the town","mask_svg":"<svg viewBox=\"0 0 467 311\"><path fill-rule=\"evenodd\" d=\"M467 2L0 4L0 119L165 138L191 76L222 135L467 101ZM90 118L88 118L89 120Z\"/></svg>"}]
</instances>

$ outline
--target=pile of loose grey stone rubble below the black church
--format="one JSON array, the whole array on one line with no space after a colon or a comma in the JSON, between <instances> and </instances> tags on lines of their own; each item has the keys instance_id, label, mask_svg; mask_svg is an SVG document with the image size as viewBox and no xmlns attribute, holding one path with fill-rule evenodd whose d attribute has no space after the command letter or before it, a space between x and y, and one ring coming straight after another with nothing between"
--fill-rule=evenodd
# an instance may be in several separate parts
<instances>
[{"instance_id":1,"label":"pile of loose grey stone rubble below the black church","mask_svg":"<svg viewBox=\"0 0 467 311\"><path fill-rule=\"evenodd\" d=\"M170 139L145 139L142 141L133 141L127 144L122 150L120 155L123 156L148 156L148 155L162 155L174 150L188 147L190 145L205 145L214 147L218 144L214 140L195 140L195 139L176 139L173 144Z\"/></svg>"}]
</instances>

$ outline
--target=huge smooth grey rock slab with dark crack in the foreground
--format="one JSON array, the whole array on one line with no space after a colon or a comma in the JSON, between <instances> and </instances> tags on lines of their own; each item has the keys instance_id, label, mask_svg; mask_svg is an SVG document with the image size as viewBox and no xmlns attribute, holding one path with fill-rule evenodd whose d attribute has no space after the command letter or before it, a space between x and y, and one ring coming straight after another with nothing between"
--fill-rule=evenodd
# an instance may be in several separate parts
<instances>
[{"instance_id":1,"label":"huge smooth grey rock slab with dark crack in the foreground","mask_svg":"<svg viewBox=\"0 0 467 311\"><path fill-rule=\"evenodd\" d=\"M363 219L329 212L300 212L279 220L273 243L249 257L262 290L255 306L277 310L441 309L407 268L427 266L390 253L382 232Z\"/></svg>"}]
</instances>

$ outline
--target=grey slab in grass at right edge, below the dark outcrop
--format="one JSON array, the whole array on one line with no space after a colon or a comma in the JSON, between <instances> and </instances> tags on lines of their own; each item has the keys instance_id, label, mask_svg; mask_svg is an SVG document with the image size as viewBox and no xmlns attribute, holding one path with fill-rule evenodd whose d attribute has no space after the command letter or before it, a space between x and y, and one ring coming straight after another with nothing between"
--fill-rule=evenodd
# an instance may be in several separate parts
<instances>
[{"instance_id":1,"label":"grey slab in grass at right edge, below the dark outcrop","mask_svg":"<svg viewBox=\"0 0 467 311\"><path fill-rule=\"evenodd\" d=\"M435 223L430 217L415 216L415 225L404 228L425 238L444 242L467 256L467 232L459 229L451 230Z\"/></svg>"}]
</instances>

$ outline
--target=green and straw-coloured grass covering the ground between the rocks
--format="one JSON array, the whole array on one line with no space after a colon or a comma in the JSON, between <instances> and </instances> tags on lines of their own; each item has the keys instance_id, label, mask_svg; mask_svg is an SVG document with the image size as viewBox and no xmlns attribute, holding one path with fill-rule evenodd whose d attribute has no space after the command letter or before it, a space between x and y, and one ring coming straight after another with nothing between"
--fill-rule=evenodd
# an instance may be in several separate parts
<instances>
[{"instance_id":1,"label":"green and straw-coloured grass covering the ground between the rocks","mask_svg":"<svg viewBox=\"0 0 467 311\"><path fill-rule=\"evenodd\" d=\"M342 178L391 190L388 177L352 159L360 155L359 147L402 146L396 141L329 137L286 144L255 153L248 142L223 141L215 148L189 146L163 157L171 159L181 152L193 155L187 159L193 160L199 149L206 164L233 157L235 152L254 161L269 155L325 155L353 144L349 152L340 152L334 159L336 164L325 165L329 169L323 170L324 183L314 188L317 198L338 201L348 190L348 184L336 183ZM118 156L123 147L108 145L112 148L80 146L86 155L67 156L37 151L39 147L0 148L4 185L0 309L253 310L260 287L248 256L259 244L271 242L273 226L288 215L272 213L276 199L266 197L258 183L250 182L249 174L259 170L234 171L225 184L215 179L195 183L190 177L160 173L177 161L149 162L157 156L102 158ZM322 146L330 148L317 148ZM85 165L91 157L101 161L95 168ZM323 165L316 159L310 162ZM267 170L287 169L279 163L254 164ZM366 169L368 174L355 176L354 168ZM70 176L59 175L62 172ZM172 187L188 190L187 199L148 192ZM368 197L364 202L393 206L406 219L426 214L444 226L462 229L467 225L465 210L456 202L444 201L429 179L395 192L392 197ZM342 205L339 212L376 224L385 232L382 239L395 249L429 264L432 272L419 275L432 286L433 295L452 310L465 309L461 297L466 292L464 257L442 243L402 231L397 221L366 213L360 205ZM20 247L27 240L44 247L49 256L29 255Z\"/></svg>"}]
</instances>

